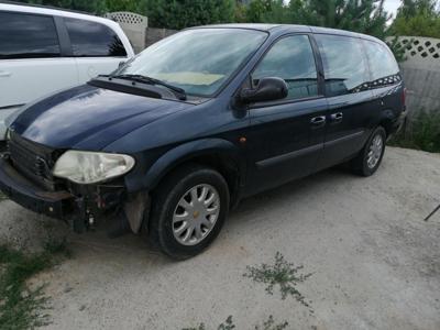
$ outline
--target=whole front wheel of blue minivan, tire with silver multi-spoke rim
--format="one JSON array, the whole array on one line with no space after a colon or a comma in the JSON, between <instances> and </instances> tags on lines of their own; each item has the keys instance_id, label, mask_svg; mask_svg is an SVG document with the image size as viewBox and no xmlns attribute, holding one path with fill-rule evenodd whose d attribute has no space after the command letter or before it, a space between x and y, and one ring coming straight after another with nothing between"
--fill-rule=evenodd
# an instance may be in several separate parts
<instances>
[{"instance_id":1,"label":"whole front wheel of blue minivan, tire with silver multi-spoke rim","mask_svg":"<svg viewBox=\"0 0 440 330\"><path fill-rule=\"evenodd\" d=\"M210 198L215 201L206 205ZM152 202L148 240L172 258L185 260L202 252L217 238L228 216L230 196L227 182L217 170L186 164L160 184Z\"/></svg>"}]
</instances>

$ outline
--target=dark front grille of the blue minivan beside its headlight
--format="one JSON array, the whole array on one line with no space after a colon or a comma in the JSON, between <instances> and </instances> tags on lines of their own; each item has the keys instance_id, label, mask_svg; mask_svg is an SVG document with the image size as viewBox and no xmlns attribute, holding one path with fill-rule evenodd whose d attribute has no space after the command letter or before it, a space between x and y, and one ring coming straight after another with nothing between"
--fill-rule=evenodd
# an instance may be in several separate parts
<instances>
[{"instance_id":1,"label":"dark front grille of the blue minivan beside its headlight","mask_svg":"<svg viewBox=\"0 0 440 330\"><path fill-rule=\"evenodd\" d=\"M8 148L15 169L45 189L56 190L52 176L57 154L55 150L25 140L16 133L11 133Z\"/></svg>"}]
</instances>

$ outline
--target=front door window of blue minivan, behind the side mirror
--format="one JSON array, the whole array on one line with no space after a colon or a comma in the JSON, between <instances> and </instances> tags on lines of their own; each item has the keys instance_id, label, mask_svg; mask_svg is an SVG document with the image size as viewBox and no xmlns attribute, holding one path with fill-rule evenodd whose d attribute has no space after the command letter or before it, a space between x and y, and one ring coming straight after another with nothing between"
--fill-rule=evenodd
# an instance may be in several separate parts
<instances>
[{"instance_id":1,"label":"front door window of blue minivan, behind the side mirror","mask_svg":"<svg viewBox=\"0 0 440 330\"><path fill-rule=\"evenodd\" d=\"M265 77L283 78L288 86L287 99L318 96L318 75L309 37L287 36L273 45L252 74L252 81L257 84Z\"/></svg>"}]
</instances>

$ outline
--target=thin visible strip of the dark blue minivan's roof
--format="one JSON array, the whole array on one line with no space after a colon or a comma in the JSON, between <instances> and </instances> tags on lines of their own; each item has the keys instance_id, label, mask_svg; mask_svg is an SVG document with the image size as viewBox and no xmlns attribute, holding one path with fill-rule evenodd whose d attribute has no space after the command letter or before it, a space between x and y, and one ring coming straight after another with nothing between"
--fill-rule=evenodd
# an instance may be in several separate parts
<instances>
[{"instance_id":1,"label":"thin visible strip of the dark blue minivan's roof","mask_svg":"<svg viewBox=\"0 0 440 330\"><path fill-rule=\"evenodd\" d=\"M265 32L284 32L284 33L298 33L298 32L311 32L311 33L322 33L322 34L337 34L337 35L345 35L352 37L363 37L367 40L378 41L376 37L345 31L345 30L337 30L329 28L320 28L320 26L308 26L308 25L296 25L296 24L265 24L265 23L232 23L232 24L213 24L213 25L204 25L204 26L195 26L191 29L206 29L206 28L218 28L218 29L249 29L249 30L258 30ZM382 43L382 42L381 42Z\"/></svg>"}]
</instances>

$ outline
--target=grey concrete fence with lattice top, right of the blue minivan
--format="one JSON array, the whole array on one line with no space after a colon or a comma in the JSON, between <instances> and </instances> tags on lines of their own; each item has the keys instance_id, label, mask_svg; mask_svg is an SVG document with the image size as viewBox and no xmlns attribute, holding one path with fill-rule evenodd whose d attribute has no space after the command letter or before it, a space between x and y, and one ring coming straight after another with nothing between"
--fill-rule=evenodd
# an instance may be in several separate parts
<instances>
[{"instance_id":1,"label":"grey concrete fence with lattice top, right of the blue minivan","mask_svg":"<svg viewBox=\"0 0 440 330\"><path fill-rule=\"evenodd\" d=\"M408 89L409 117L421 110L440 111L440 40L403 36L406 61L400 63Z\"/></svg>"}]
</instances>

